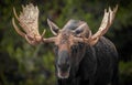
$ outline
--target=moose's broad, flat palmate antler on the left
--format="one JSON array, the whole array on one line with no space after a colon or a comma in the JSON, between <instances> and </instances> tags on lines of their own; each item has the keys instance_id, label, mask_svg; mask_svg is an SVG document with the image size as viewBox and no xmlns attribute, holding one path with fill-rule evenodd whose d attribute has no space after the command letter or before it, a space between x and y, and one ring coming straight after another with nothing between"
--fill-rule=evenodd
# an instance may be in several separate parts
<instances>
[{"instance_id":1,"label":"moose's broad, flat palmate antler on the left","mask_svg":"<svg viewBox=\"0 0 132 85\"><path fill-rule=\"evenodd\" d=\"M32 3L23 7L23 11L20 13L20 17L18 17L15 9L13 8L13 13L16 20L19 21L21 28L23 29L22 32L15 24L14 18L12 19L12 24L15 29L15 31L23 38L26 39L26 41L32 44L38 44L42 41L44 42L52 42L54 39L43 39L43 35L45 34L45 30L43 31L42 35L38 33L38 9L37 7L34 7Z\"/></svg>"}]
</instances>

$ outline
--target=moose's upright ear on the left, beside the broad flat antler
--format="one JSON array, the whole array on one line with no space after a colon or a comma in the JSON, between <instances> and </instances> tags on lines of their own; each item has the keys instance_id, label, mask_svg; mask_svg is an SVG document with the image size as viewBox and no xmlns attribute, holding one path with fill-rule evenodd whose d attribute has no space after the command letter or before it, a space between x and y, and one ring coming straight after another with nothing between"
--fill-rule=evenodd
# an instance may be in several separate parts
<instances>
[{"instance_id":1,"label":"moose's upright ear on the left, beside the broad flat antler","mask_svg":"<svg viewBox=\"0 0 132 85\"><path fill-rule=\"evenodd\" d=\"M57 35L58 32L59 32L58 26L55 23L53 23L50 19L47 19L47 24L50 25L50 29L51 29L52 33L54 35Z\"/></svg>"}]
</instances>

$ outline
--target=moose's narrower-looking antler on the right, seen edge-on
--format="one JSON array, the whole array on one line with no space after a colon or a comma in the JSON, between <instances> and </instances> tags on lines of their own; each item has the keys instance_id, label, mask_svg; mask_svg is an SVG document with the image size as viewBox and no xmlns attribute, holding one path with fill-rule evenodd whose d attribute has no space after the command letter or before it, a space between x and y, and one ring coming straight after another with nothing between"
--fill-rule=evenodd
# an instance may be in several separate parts
<instances>
[{"instance_id":1,"label":"moose's narrower-looking antler on the right, seen edge-on","mask_svg":"<svg viewBox=\"0 0 132 85\"><path fill-rule=\"evenodd\" d=\"M105 15L101 22L101 25L99 28L99 30L97 31L97 33L95 33L94 35L90 35L90 38L75 38L75 41L79 41L79 42L86 42L89 43L90 45L94 45L98 42L99 38L102 36L103 34L106 34L106 32L109 30L110 25L113 22L113 19L116 17L118 10L118 4L116 8L113 8L113 10L111 10L111 8L109 7L109 10L107 11L107 9L105 9Z\"/></svg>"}]
</instances>

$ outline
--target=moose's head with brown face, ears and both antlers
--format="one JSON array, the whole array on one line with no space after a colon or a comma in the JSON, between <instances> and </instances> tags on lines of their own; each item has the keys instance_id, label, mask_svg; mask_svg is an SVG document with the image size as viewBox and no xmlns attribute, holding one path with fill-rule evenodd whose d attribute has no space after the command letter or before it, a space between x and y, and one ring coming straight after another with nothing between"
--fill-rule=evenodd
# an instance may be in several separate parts
<instances>
[{"instance_id":1,"label":"moose's head with brown face, ears and both antlers","mask_svg":"<svg viewBox=\"0 0 132 85\"><path fill-rule=\"evenodd\" d=\"M79 20L69 20L63 29L59 29L55 23L47 19L47 24L54 36L44 38L45 30L42 34L38 32L38 9L32 3L23 7L23 11L18 17L15 9L13 13L19 21L20 26L12 19L12 24L15 31L24 38L30 44L37 45L40 43L55 44L56 55L56 74L59 78L67 78L70 76L69 72L74 66L78 65L82 59L85 45L95 45L100 36L106 34L113 22L118 6L111 10L105 9L103 19L99 30L92 34L86 22ZM80 44L81 43L81 44ZM77 47L78 46L78 47ZM78 53L80 52L80 53Z\"/></svg>"}]
</instances>

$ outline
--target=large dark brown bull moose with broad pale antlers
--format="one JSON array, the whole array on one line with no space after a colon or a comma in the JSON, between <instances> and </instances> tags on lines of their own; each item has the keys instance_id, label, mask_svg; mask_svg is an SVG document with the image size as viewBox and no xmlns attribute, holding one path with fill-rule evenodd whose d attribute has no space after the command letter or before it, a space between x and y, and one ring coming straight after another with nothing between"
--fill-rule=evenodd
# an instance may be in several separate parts
<instances>
[{"instance_id":1,"label":"large dark brown bull moose with broad pale antlers","mask_svg":"<svg viewBox=\"0 0 132 85\"><path fill-rule=\"evenodd\" d=\"M116 17L118 6L111 10L105 9L99 30L92 34L87 22L70 19L63 29L47 19L47 24L54 36L44 38L38 32L38 9L32 3L22 6L23 11L18 17L20 28L12 18L12 24L22 38L30 44L55 44L55 73L57 85L117 85L118 52L114 44L103 35L109 30Z\"/></svg>"}]
</instances>

